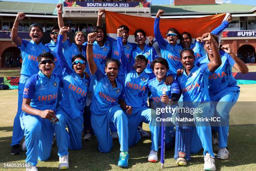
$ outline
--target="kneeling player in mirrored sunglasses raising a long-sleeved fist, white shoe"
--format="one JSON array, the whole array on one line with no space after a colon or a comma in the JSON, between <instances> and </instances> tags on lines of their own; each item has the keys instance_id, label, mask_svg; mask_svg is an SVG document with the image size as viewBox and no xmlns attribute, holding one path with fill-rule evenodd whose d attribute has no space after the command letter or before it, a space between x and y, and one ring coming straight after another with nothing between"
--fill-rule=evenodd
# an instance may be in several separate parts
<instances>
[{"instance_id":1,"label":"kneeling player in mirrored sunglasses raising a long-sleeved fist, white shoe","mask_svg":"<svg viewBox=\"0 0 256 171\"><path fill-rule=\"evenodd\" d=\"M84 69L86 62L83 55L75 55L72 58L73 68L62 53L63 34L70 29L63 27L59 30L57 40L57 59L63 74L63 94L60 107L56 111L59 122L54 125L55 136L58 146L59 169L69 168L69 152L82 148L83 113L86 103L86 93L89 81L85 78ZM66 131L66 125L69 132Z\"/></svg>"}]
</instances>

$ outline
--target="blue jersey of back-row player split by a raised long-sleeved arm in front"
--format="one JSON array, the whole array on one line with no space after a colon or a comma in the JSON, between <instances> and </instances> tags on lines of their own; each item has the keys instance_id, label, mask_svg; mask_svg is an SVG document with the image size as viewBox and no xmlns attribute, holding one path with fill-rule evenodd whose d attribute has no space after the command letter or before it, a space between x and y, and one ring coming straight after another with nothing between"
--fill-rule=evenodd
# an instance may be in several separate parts
<instances>
[{"instance_id":1,"label":"blue jersey of back-row player split by a raised long-sleeved arm in front","mask_svg":"<svg viewBox=\"0 0 256 171\"><path fill-rule=\"evenodd\" d=\"M119 54L119 52L118 52L118 43L117 43L117 40L115 40L114 38L111 38L111 37L108 36L108 41L111 43L111 46L112 46L112 55L111 55L111 58L120 60L120 54ZM127 44L124 45L123 47L124 47L125 56L127 57L127 59L131 60L132 51L137 47L137 44L127 42ZM124 71L123 68L124 68L124 66L123 66L123 64L121 63L120 68L119 68L118 75L125 75L125 71Z\"/></svg>"}]
</instances>

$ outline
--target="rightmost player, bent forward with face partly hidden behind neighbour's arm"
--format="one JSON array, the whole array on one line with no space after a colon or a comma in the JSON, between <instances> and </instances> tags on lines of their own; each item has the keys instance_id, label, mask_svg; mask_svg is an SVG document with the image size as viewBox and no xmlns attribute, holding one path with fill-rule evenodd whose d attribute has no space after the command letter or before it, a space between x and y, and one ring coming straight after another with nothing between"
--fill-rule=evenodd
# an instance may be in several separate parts
<instances>
[{"instance_id":1,"label":"rightmost player, bent forward with face partly hidden behind neighbour's arm","mask_svg":"<svg viewBox=\"0 0 256 171\"><path fill-rule=\"evenodd\" d=\"M218 37L216 39L218 40ZM206 42L204 47L207 54L198 60L197 65L204 65L213 60L211 45ZM209 95L211 101L215 104L216 117L221 118L220 122L215 122L212 126L212 129L218 133L219 148L217 158L227 159L229 155L227 148L229 112L240 93L240 87L232 75L232 67L244 74L248 73L248 68L231 50L229 45L222 45L221 49L223 50L220 51L222 64L214 73L209 75Z\"/></svg>"}]
</instances>

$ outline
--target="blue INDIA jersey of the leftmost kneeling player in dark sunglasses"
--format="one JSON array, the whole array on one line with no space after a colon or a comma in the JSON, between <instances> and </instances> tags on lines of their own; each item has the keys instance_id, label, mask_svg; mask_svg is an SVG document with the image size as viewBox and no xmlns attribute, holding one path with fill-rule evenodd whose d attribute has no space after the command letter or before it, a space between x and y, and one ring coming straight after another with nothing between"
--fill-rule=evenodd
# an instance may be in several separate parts
<instances>
[{"instance_id":1,"label":"blue INDIA jersey of the leftmost kneeling player in dark sunglasses","mask_svg":"<svg viewBox=\"0 0 256 171\"><path fill-rule=\"evenodd\" d=\"M63 86L60 75L53 73L48 78L40 70L27 80L23 98L31 99L30 106L32 108L41 111L46 109L55 111L59 86Z\"/></svg>"}]
</instances>

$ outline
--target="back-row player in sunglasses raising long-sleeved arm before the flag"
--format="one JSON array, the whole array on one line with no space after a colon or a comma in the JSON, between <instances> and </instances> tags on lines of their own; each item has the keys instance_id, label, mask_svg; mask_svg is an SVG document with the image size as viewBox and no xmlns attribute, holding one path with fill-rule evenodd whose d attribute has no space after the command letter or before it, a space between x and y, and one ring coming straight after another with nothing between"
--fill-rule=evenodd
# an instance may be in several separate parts
<instances>
[{"instance_id":1,"label":"back-row player in sunglasses raising long-sleeved arm before the flag","mask_svg":"<svg viewBox=\"0 0 256 171\"><path fill-rule=\"evenodd\" d=\"M179 39L179 32L175 28L169 28L166 34L167 41L164 40L159 28L160 16L163 13L164 10L158 10L158 13L156 14L154 35L159 47L161 48L162 58L168 61L168 74L172 74L174 77L176 77L177 70L182 68L179 56L179 52L182 50L182 47L176 42Z\"/></svg>"}]
</instances>

